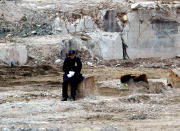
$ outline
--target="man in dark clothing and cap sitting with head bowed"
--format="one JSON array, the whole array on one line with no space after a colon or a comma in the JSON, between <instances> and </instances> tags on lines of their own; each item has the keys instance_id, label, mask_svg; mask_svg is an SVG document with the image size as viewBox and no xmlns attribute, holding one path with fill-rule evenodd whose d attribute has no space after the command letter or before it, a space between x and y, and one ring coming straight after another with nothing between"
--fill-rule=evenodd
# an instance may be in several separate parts
<instances>
[{"instance_id":1,"label":"man in dark clothing and cap sitting with head bowed","mask_svg":"<svg viewBox=\"0 0 180 131\"><path fill-rule=\"evenodd\" d=\"M82 63L79 57L76 56L75 50L70 50L68 56L64 60L63 64L63 84L62 84L62 100L67 101L68 98L68 83L71 84L71 101L75 101L76 88L83 77L80 73L82 69Z\"/></svg>"}]
</instances>

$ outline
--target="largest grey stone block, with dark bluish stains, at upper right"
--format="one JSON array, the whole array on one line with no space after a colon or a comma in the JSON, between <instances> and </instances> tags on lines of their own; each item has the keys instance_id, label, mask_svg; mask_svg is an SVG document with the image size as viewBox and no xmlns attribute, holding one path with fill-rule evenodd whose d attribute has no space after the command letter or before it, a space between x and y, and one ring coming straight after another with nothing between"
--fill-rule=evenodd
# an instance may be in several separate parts
<instances>
[{"instance_id":1,"label":"largest grey stone block, with dark bluish stains, at upper right","mask_svg":"<svg viewBox=\"0 0 180 131\"><path fill-rule=\"evenodd\" d=\"M156 14L153 19L152 14ZM179 54L180 28L178 28L179 21L174 16L176 15L164 17L163 13L151 9L138 9L128 13L129 24L126 24L123 32L129 57L131 59L169 58Z\"/></svg>"}]
</instances>

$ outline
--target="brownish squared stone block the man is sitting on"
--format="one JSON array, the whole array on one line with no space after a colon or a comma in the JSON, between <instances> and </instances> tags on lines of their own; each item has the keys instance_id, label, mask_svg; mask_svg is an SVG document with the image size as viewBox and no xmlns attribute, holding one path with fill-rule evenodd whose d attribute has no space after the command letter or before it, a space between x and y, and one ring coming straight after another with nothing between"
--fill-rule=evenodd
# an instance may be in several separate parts
<instances>
[{"instance_id":1,"label":"brownish squared stone block the man is sitting on","mask_svg":"<svg viewBox=\"0 0 180 131\"><path fill-rule=\"evenodd\" d=\"M83 75L84 79L79 83L76 92L76 98L83 98L94 95L94 76ZM71 85L68 85L68 95L71 96Z\"/></svg>"}]
</instances>

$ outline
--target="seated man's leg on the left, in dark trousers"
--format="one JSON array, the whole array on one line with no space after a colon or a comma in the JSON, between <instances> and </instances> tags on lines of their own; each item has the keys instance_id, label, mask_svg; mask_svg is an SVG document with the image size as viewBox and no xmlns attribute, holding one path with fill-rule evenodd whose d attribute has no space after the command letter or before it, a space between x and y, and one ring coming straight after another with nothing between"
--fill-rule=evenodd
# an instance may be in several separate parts
<instances>
[{"instance_id":1,"label":"seated man's leg on the left, in dark trousers","mask_svg":"<svg viewBox=\"0 0 180 131\"><path fill-rule=\"evenodd\" d=\"M68 98L68 77L64 74L62 83L62 101L67 101Z\"/></svg>"}]
</instances>

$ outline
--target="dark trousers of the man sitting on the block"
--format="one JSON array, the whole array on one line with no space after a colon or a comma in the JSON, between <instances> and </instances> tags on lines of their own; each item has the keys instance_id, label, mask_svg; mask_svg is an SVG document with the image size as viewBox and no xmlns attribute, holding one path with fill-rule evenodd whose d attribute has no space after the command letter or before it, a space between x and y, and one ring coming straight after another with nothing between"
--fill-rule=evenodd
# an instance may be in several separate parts
<instances>
[{"instance_id":1,"label":"dark trousers of the man sitting on the block","mask_svg":"<svg viewBox=\"0 0 180 131\"><path fill-rule=\"evenodd\" d=\"M71 97L75 98L77 85L83 80L82 75L74 75L71 78L67 77L67 74L63 76L62 83L62 97L68 98L68 83L71 84Z\"/></svg>"}]
</instances>

